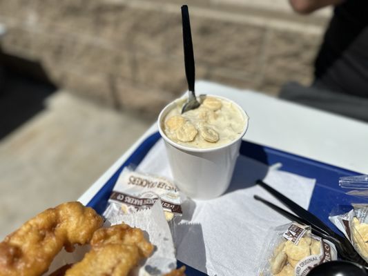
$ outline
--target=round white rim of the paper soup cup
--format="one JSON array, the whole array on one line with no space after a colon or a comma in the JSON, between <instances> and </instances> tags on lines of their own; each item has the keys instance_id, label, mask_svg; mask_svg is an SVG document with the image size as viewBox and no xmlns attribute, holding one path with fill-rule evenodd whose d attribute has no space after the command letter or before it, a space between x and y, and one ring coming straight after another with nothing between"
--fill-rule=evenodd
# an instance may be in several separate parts
<instances>
[{"instance_id":1,"label":"round white rim of the paper soup cup","mask_svg":"<svg viewBox=\"0 0 368 276\"><path fill-rule=\"evenodd\" d=\"M248 129L249 126L249 116L246 114L246 112L243 110L243 108L241 106L238 105L238 103L235 103L235 101L228 99L226 97L222 97L222 96L217 96L217 95L211 95L211 94L206 94L206 96L209 97L217 97L220 99L224 99L225 101L230 101L231 103L233 103L233 105L237 106L238 109L240 110L240 112L242 113L242 116L244 118L244 121L246 121L246 124L244 125L244 129L242 131L242 133L239 135L238 139L235 139L233 141L231 141L228 144L224 144L221 146L217 146L214 148L191 148L188 146L183 146L180 144L175 143L175 141L172 141L171 139L169 139L164 130L162 129L162 120L164 119L164 117L166 116L168 109L172 108L172 106L175 104L175 101L171 101L171 103L168 103L162 110L161 112L159 112L159 116L157 119L157 124L158 124L158 129L159 129L159 134L162 136L162 138L164 138L164 140L168 143L171 144L171 146L174 146L175 148L179 148L180 150L186 150L188 152L213 152L213 151L217 151L217 150L221 150L222 148L227 148L233 144L235 144L236 142L238 142L240 139L242 139L242 137L244 137L246 130ZM182 97L184 98L186 97L185 95Z\"/></svg>"}]
</instances>

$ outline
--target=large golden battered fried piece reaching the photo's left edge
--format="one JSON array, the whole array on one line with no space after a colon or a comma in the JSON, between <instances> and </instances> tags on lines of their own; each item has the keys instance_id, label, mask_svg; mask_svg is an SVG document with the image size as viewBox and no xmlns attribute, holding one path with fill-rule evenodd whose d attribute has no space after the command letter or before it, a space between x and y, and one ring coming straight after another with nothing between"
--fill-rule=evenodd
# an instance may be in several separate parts
<instances>
[{"instance_id":1,"label":"large golden battered fried piece reaching the photo's left edge","mask_svg":"<svg viewBox=\"0 0 368 276\"><path fill-rule=\"evenodd\" d=\"M39 276L65 247L86 244L103 219L79 202L49 208L23 224L0 243L0 276Z\"/></svg>"}]
</instances>

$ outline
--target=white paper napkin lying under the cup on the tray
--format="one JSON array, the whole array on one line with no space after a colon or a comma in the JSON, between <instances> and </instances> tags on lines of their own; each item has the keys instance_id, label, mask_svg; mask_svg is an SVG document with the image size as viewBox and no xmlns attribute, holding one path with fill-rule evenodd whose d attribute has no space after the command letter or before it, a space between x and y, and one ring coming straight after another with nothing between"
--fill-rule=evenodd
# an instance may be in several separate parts
<instances>
[{"instance_id":1,"label":"white paper napkin lying under the cup on the tray","mask_svg":"<svg viewBox=\"0 0 368 276\"><path fill-rule=\"evenodd\" d=\"M162 139L137 170L173 179ZM316 183L315 179L269 168L241 155L224 195L207 201L190 199L184 204L182 221L173 237L177 259L210 276L256 274L269 228L288 222L253 199L253 195L260 195L282 206L267 191L254 185L256 179L264 179L304 208L309 206Z\"/></svg>"}]
</instances>

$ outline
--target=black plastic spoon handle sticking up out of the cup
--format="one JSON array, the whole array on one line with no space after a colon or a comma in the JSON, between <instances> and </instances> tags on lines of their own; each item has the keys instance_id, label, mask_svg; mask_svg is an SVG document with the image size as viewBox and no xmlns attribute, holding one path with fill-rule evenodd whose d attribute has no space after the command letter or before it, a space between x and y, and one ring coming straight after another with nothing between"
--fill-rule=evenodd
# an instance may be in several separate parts
<instances>
[{"instance_id":1,"label":"black plastic spoon handle sticking up out of the cup","mask_svg":"<svg viewBox=\"0 0 368 276\"><path fill-rule=\"evenodd\" d=\"M188 6L182 6L182 26L183 26L183 44L184 44L184 65L186 81L188 82L189 97L194 95L195 66L193 43L191 34L191 21L189 20Z\"/></svg>"}]
</instances>

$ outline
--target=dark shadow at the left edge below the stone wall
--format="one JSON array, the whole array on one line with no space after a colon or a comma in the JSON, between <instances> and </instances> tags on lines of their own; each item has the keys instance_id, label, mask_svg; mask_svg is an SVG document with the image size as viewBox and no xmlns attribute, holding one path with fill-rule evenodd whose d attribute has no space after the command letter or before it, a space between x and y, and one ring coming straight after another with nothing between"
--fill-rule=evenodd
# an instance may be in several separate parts
<instances>
[{"instance_id":1,"label":"dark shadow at the left edge below the stone wall","mask_svg":"<svg viewBox=\"0 0 368 276\"><path fill-rule=\"evenodd\" d=\"M0 49L0 139L43 110L44 100L56 90L39 63Z\"/></svg>"}]
</instances>

